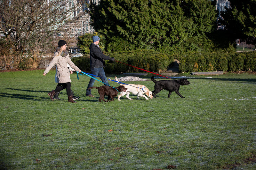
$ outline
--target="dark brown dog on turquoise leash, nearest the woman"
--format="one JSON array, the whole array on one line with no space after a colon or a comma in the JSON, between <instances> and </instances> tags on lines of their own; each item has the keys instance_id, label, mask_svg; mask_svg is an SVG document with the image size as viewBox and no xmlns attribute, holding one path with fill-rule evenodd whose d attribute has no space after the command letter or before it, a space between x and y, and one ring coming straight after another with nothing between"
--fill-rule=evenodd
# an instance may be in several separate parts
<instances>
[{"instance_id":1,"label":"dark brown dog on turquoise leash, nearest the woman","mask_svg":"<svg viewBox=\"0 0 256 170\"><path fill-rule=\"evenodd\" d=\"M125 88L123 85L120 85L118 87L109 87L106 85L102 85L100 87L90 87L88 89L98 89L98 93L100 94L99 101L101 100L108 102L108 100L111 98L112 101L114 101L114 97L117 96L118 92L126 92L127 88ZM104 100L104 97L108 96L108 100Z\"/></svg>"}]
</instances>

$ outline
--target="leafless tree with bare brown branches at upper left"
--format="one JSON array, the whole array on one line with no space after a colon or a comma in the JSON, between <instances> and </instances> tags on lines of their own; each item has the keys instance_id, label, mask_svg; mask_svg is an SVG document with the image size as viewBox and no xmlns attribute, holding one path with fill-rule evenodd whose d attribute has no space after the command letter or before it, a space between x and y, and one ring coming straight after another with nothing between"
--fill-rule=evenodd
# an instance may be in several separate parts
<instances>
[{"instance_id":1,"label":"leafless tree with bare brown branches at upper left","mask_svg":"<svg viewBox=\"0 0 256 170\"><path fill-rule=\"evenodd\" d=\"M28 50L33 44L49 42L46 39L51 39L52 33L67 32L64 24L72 20L82 3L70 0L0 0L0 34L12 44L14 64L18 64L23 50Z\"/></svg>"}]
</instances>

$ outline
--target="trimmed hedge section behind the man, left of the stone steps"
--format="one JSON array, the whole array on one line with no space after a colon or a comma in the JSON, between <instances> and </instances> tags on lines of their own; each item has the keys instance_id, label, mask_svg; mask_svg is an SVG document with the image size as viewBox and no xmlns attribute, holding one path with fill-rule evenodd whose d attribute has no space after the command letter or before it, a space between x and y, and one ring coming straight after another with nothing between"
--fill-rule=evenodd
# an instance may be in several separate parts
<instances>
[{"instance_id":1,"label":"trimmed hedge section behind the man, left of the stone steps","mask_svg":"<svg viewBox=\"0 0 256 170\"><path fill-rule=\"evenodd\" d=\"M174 61L174 56L154 50L134 50L119 51L109 55L114 57L116 61L105 61L105 72L140 72L143 70L136 69L126 64L148 70L151 72L161 72L166 70L168 65ZM90 70L89 57L73 57L71 59L81 70ZM123 64L126 63L126 64Z\"/></svg>"}]
</instances>

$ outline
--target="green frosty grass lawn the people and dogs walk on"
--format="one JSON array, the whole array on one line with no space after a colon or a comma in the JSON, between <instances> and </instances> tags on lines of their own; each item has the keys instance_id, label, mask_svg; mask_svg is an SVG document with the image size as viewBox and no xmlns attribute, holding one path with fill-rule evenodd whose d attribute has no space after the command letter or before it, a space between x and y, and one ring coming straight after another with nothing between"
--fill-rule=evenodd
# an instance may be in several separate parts
<instances>
[{"instance_id":1,"label":"green frosty grass lawn the people and dogs walk on","mask_svg":"<svg viewBox=\"0 0 256 170\"><path fill-rule=\"evenodd\" d=\"M0 169L256 169L256 75L189 76L185 99L161 91L105 103L73 74L80 99L70 103L66 92L49 99L55 70L43 71L0 73Z\"/></svg>"}]
</instances>

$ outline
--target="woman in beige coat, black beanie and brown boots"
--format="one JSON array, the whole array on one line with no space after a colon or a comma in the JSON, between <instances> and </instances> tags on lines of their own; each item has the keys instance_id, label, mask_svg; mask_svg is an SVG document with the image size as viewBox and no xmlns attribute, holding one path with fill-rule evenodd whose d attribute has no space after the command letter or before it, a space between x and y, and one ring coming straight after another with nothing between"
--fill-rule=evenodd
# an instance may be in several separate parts
<instances>
[{"instance_id":1,"label":"woman in beige coat, black beanie and brown boots","mask_svg":"<svg viewBox=\"0 0 256 170\"><path fill-rule=\"evenodd\" d=\"M56 52L54 53L54 57L51 61L51 63L48 65L48 67L44 70L44 76L51 70L51 68L56 64L57 66L57 82L61 83L61 86L57 86L55 90L52 90L52 92L48 93L48 96L52 100L53 96L56 92L60 92L63 89L67 90L68 94L68 101L71 103L76 103L74 101L71 95L71 80L70 80L70 73L69 69L67 67L67 64L69 64L72 68L75 70L78 70L79 73L81 73L81 70L70 60L68 51L67 51L67 42L64 40L60 40L58 42L59 47L57 48Z\"/></svg>"}]
</instances>

